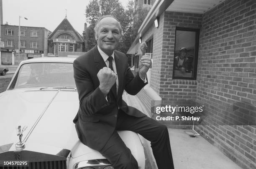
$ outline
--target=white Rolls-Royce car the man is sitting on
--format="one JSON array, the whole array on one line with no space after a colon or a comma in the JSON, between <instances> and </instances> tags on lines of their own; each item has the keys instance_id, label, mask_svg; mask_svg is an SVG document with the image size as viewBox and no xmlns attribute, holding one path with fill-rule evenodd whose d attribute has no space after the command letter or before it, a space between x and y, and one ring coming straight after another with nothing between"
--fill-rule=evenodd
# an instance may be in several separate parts
<instances>
[{"instance_id":1,"label":"white Rolls-Royce car the man is sitting on","mask_svg":"<svg viewBox=\"0 0 256 169\"><path fill-rule=\"evenodd\" d=\"M79 108L74 59L41 57L20 62L7 90L0 93L0 162L23 160L30 169L113 169L77 137L72 122ZM144 169L138 134L118 133Z\"/></svg>"}]
</instances>

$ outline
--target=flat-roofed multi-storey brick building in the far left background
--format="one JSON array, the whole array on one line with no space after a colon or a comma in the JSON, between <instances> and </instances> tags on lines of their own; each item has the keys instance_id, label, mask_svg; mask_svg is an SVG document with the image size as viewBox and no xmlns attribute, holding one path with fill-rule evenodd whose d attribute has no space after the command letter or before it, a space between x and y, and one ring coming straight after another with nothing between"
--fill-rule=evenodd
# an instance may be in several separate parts
<instances>
[{"instance_id":1,"label":"flat-roofed multi-storey brick building in the far left background","mask_svg":"<svg viewBox=\"0 0 256 169\"><path fill-rule=\"evenodd\" d=\"M18 56L18 30L16 25L1 25L0 64L18 65L20 61L47 55L47 37L51 33L44 27L20 26L20 57Z\"/></svg>"}]
</instances>

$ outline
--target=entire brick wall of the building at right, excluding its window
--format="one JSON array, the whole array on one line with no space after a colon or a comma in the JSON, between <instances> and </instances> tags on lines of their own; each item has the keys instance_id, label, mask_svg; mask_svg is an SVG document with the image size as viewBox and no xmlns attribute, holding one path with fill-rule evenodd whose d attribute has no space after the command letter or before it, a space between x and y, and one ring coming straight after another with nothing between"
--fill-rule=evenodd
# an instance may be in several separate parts
<instances>
[{"instance_id":1,"label":"entire brick wall of the building at right, excluding its window","mask_svg":"<svg viewBox=\"0 0 256 169\"><path fill-rule=\"evenodd\" d=\"M226 0L203 15L163 15L158 30L143 35L154 34L151 87L166 102L204 105L209 116L197 132L243 169L255 169L256 127L218 122L256 117L256 1ZM200 28L197 80L172 79L176 26ZM148 105L143 90L138 96Z\"/></svg>"}]
</instances>

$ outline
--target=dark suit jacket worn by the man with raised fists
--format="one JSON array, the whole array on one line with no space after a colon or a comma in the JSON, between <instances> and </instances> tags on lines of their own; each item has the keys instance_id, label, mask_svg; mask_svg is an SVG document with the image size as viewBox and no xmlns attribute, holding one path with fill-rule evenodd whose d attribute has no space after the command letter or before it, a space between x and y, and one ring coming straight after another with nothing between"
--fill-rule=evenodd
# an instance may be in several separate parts
<instances>
[{"instance_id":1,"label":"dark suit jacket worn by the man with raised fists","mask_svg":"<svg viewBox=\"0 0 256 169\"><path fill-rule=\"evenodd\" d=\"M73 122L81 142L92 149L100 150L115 130L118 107L131 116L146 116L138 109L128 106L122 99L123 90L128 94L137 94L144 83L128 68L125 54L115 51L115 65L118 73L118 93L110 90L108 101L99 89L97 73L106 67L97 45L74 60L74 80L79 95L79 111Z\"/></svg>"}]
</instances>

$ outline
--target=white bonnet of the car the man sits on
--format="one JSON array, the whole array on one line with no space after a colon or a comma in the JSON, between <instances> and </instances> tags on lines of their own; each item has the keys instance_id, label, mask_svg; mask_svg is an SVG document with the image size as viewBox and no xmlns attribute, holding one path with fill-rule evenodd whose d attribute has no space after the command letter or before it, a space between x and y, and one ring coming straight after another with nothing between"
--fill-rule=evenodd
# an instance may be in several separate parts
<instances>
[{"instance_id":1,"label":"white bonnet of the car the man sits on","mask_svg":"<svg viewBox=\"0 0 256 169\"><path fill-rule=\"evenodd\" d=\"M79 108L75 90L9 90L0 94L0 107L0 145L19 141L18 125L27 126L22 139L28 143L71 149L77 142L72 122Z\"/></svg>"}]
</instances>

